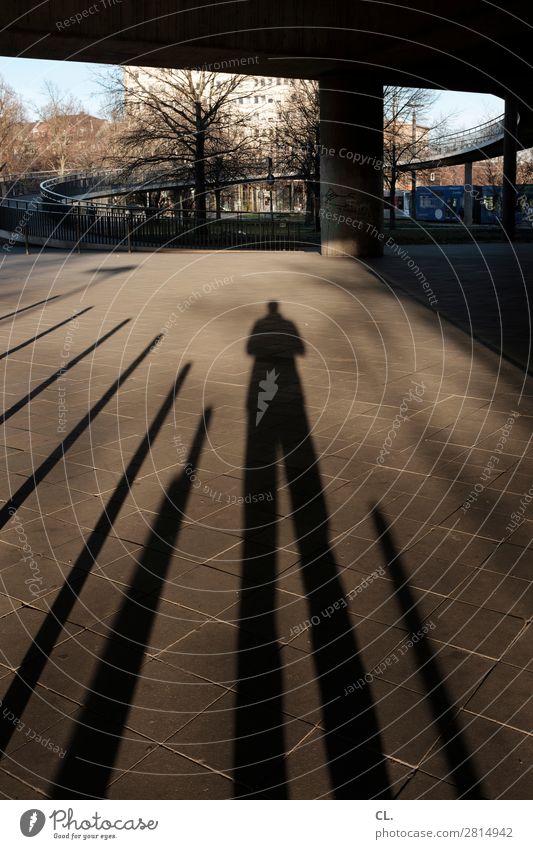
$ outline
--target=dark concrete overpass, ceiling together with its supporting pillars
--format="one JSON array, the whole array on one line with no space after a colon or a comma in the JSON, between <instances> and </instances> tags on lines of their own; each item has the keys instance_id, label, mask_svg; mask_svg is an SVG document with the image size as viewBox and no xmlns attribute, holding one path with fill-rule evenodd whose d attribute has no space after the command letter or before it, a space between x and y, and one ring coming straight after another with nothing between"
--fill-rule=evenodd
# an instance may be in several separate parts
<instances>
[{"instance_id":1,"label":"dark concrete overpass, ceiling together with its supporting pillars","mask_svg":"<svg viewBox=\"0 0 533 849\"><path fill-rule=\"evenodd\" d=\"M224 0L201 6L197 0L100 0L82 11L77 0L37 6L7 0L0 53L319 79L321 143L325 140L330 151L321 162L323 250L361 256L382 250L380 240L367 236L382 229L383 84L512 95L520 134L527 135L533 120L531 71L522 58L530 47L524 14L519 2L500 10L458 0L445 10L440 0L414 0L409 9L362 0ZM533 22L533 11L529 15ZM513 112L510 126L516 123ZM516 141L511 141L509 195L516 171ZM350 151L351 163L343 150ZM512 237L511 196L504 209Z\"/></svg>"}]
</instances>

